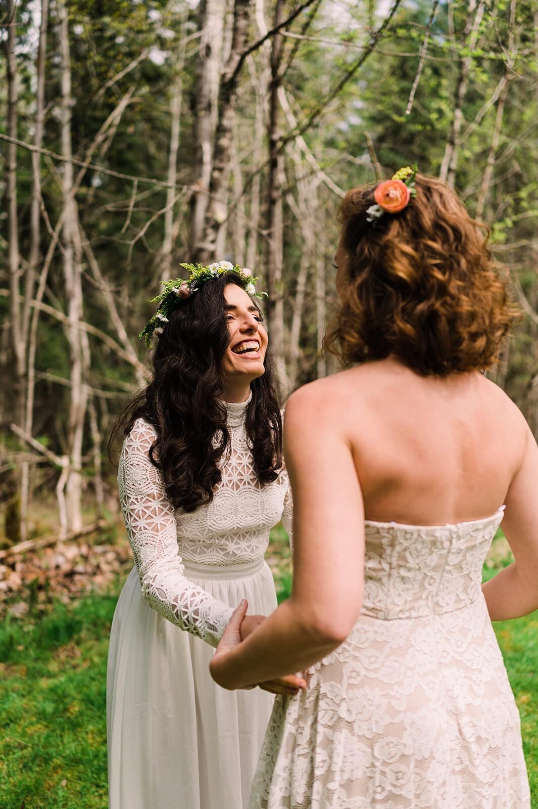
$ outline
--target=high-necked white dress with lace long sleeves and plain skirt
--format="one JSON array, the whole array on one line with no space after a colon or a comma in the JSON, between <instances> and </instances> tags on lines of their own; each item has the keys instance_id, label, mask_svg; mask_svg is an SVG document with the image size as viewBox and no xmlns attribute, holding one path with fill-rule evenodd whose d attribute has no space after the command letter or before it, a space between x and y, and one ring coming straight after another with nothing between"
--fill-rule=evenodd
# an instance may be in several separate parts
<instances>
[{"instance_id":1,"label":"high-necked white dress with lace long sleeves and plain skirt","mask_svg":"<svg viewBox=\"0 0 538 809\"><path fill-rule=\"evenodd\" d=\"M227 404L231 455L212 503L175 511L148 457L139 419L120 458L120 501L135 568L111 628L107 671L110 809L242 809L274 697L225 691L209 675L233 608L276 607L263 555L291 523L286 472L260 488L244 426ZM284 512L284 514L283 514ZM184 631L181 631L184 630Z\"/></svg>"}]
</instances>

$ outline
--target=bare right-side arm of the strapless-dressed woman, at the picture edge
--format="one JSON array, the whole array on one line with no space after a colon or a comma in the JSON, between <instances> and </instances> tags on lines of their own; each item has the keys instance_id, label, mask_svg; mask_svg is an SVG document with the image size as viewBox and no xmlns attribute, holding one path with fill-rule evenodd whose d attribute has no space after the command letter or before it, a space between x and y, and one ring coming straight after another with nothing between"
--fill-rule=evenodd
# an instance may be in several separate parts
<instances>
[{"instance_id":1,"label":"bare right-side arm of the strapless-dressed woman, at the picture edge","mask_svg":"<svg viewBox=\"0 0 538 809\"><path fill-rule=\"evenodd\" d=\"M482 585L492 621L538 609L538 447L525 426L523 463L506 496L502 530L515 562Z\"/></svg>"}]
</instances>

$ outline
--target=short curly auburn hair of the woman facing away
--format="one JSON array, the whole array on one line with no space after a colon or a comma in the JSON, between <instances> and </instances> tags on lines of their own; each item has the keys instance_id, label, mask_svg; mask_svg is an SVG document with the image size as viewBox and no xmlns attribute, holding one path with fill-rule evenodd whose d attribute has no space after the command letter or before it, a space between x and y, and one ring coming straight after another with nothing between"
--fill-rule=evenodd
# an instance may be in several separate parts
<instances>
[{"instance_id":1,"label":"short curly auburn hair of the woman facing away","mask_svg":"<svg viewBox=\"0 0 538 809\"><path fill-rule=\"evenodd\" d=\"M406 208L376 222L375 185L343 198L347 267L324 347L347 366L393 354L422 375L484 370L518 317L489 231L442 180L418 174L415 188Z\"/></svg>"}]
</instances>

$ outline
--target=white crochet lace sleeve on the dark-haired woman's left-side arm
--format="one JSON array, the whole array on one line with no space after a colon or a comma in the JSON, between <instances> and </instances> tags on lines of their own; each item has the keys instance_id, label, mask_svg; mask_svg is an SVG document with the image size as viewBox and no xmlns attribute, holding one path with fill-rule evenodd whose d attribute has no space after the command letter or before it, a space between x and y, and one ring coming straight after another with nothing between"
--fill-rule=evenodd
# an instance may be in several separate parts
<instances>
[{"instance_id":1,"label":"white crochet lace sleeve on the dark-haired woman's left-side arm","mask_svg":"<svg viewBox=\"0 0 538 809\"><path fill-rule=\"evenodd\" d=\"M149 460L154 439L153 427L138 419L125 438L118 469L121 510L142 594L168 621L216 646L233 608L183 575L174 507Z\"/></svg>"}]
</instances>

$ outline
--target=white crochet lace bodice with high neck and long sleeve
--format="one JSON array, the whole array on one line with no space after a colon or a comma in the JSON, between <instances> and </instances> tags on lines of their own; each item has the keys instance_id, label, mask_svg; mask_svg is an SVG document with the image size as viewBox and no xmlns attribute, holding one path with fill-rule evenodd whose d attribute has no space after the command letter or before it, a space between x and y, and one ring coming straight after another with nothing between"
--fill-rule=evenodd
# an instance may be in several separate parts
<instances>
[{"instance_id":1,"label":"white crochet lace bodice with high neck and long sleeve","mask_svg":"<svg viewBox=\"0 0 538 809\"><path fill-rule=\"evenodd\" d=\"M249 399L250 400L250 399ZM120 503L145 599L168 621L216 646L233 608L189 581L184 562L226 568L263 558L269 531L282 519L292 530L292 497L283 468L258 484L246 436L248 401L225 403L231 438L221 460L222 480L211 503L191 513L175 510L161 473L149 460L155 428L135 421L118 468Z\"/></svg>"}]
</instances>

